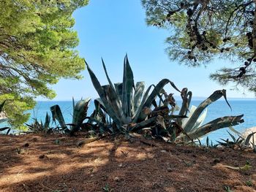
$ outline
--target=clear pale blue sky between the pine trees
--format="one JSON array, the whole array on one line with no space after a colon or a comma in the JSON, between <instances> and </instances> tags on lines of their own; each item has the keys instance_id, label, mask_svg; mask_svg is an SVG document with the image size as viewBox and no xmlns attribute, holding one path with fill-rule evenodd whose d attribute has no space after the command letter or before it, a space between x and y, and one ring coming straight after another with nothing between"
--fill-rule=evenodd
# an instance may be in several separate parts
<instances>
[{"instance_id":1,"label":"clear pale blue sky between the pine trees","mask_svg":"<svg viewBox=\"0 0 256 192\"><path fill-rule=\"evenodd\" d=\"M170 61L165 53L165 39L169 32L146 25L145 10L140 0L91 0L89 5L78 9L74 15L80 45L80 56L86 58L102 85L107 84L102 68L104 59L113 82L121 82L124 55L127 53L135 81L146 85L157 84L159 80L172 80L178 88L189 88L194 96L210 96L217 89L227 89L227 97L254 97L244 90L230 91L232 85L223 87L209 80L211 72L227 64L216 60L207 68L188 68ZM81 97L96 98L88 72L82 72L83 80L60 80L51 86L56 91L54 100L71 100ZM176 91L167 87L168 92ZM42 100L42 99L39 99Z\"/></svg>"}]
</instances>

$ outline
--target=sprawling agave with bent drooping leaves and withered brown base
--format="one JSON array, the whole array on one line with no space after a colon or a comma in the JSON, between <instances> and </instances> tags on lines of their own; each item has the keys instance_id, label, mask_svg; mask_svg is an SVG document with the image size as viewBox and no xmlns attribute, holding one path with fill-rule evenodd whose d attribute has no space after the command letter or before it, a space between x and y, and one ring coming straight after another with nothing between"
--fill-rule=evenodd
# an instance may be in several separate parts
<instances>
[{"instance_id":1,"label":"sprawling agave with bent drooping leaves and withered brown base","mask_svg":"<svg viewBox=\"0 0 256 192\"><path fill-rule=\"evenodd\" d=\"M165 100L167 99L166 96L167 94L165 94ZM159 112L157 113L157 124L151 126L154 135L162 137L165 141L189 142L189 140L193 141L219 128L236 126L239 123L243 123L244 120L241 119L243 115L238 115L217 118L202 126L203 120L206 118L206 107L222 96L224 96L227 101L225 90L214 91L214 93L212 93L211 96L203 101L198 107L192 106L190 110L188 110L192 99L192 92L188 91L187 88L184 88L181 91L181 109L178 109L176 104L171 105L170 102L168 105L168 107L171 107L170 109L164 102L159 104L159 106L162 106L162 109L167 108L168 110L166 110L166 112L170 112L170 115L166 113L165 115L161 113L159 114ZM230 106L228 102L227 104ZM177 116L173 115L173 112L176 110L179 110ZM187 115L188 118L184 118L187 117Z\"/></svg>"}]
</instances>

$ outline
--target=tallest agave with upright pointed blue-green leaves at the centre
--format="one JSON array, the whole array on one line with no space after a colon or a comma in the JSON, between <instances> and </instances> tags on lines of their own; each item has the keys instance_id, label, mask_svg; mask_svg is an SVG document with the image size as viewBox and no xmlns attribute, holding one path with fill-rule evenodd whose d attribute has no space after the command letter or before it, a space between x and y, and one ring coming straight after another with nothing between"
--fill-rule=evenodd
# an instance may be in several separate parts
<instances>
[{"instance_id":1,"label":"tallest agave with upright pointed blue-green leaves at the centre","mask_svg":"<svg viewBox=\"0 0 256 192\"><path fill-rule=\"evenodd\" d=\"M102 65L109 85L102 86L90 66L86 63L91 81L99 94L99 99L95 99L97 111L94 112L94 116L98 115L102 110L102 112L109 115L119 129L124 128L127 131L131 131L156 121L156 118L148 118L148 112L153 105L156 107L155 99L157 96L162 100L160 94L168 83L176 91L181 92L173 82L167 79L161 80L157 85L150 85L144 92L145 83L137 82L135 84L134 82L127 55L124 58L124 74L123 82L121 83L113 84L103 60ZM151 88L153 88L152 91Z\"/></svg>"}]
</instances>

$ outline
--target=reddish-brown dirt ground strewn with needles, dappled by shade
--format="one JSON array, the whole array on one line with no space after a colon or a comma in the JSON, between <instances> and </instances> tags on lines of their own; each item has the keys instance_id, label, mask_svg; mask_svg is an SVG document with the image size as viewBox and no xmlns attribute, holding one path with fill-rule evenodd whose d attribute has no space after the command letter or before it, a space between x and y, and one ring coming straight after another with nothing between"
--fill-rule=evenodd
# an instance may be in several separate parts
<instances>
[{"instance_id":1,"label":"reddish-brown dirt ground strewn with needles, dappled by shade","mask_svg":"<svg viewBox=\"0 0 256 192\"><path fill-rule=\"evenodd\" d=\"M123 137L78 146L82 140L0 136L0 191L256 191L256 153ZM252 168L223 166L246 161Z\"/></svg>"}]
</instances>

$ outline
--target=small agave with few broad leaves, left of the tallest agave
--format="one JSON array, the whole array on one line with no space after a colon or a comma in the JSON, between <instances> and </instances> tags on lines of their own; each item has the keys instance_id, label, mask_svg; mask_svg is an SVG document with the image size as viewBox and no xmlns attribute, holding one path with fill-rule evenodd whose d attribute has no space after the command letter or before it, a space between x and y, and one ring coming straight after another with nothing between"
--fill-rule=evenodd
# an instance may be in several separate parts
<instances>
[{"instance_id":1,"label":"small agave with few broad leaves, left of the tallest agave","mask_svg":"<svg viewBox=\"0 0 256 192\"><path fill-rule=\"evenodd\" d=\"M58 120L62 130L65 133L69 133L69 134L74 134L75 131L78 131L80 126L83 123L83 120L86 119L87 110L88 110L91 99L81 99L76 104L74 99L72 101L73 101L73 115L72 115L71 124L65 123L65 120L61 112L61 108L59 107L58 104L50 107L50 111L52 112L53 122L56 123L56 120ZM68 125L70 125L70 128L67 127Z\"/></svg>"}]
</instances>

